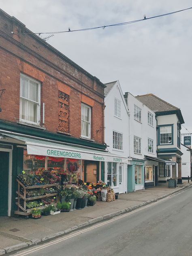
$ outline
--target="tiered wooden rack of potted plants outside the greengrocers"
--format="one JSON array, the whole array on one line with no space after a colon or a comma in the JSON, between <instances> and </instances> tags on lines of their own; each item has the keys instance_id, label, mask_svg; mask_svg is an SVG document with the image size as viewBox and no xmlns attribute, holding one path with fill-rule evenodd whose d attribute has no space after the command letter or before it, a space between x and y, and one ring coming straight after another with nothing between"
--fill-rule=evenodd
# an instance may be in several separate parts
<instances>
[{"instance_id":1,"label":"tiered wooden rack of potted plants outside the greengrocers","mask_svg":"<svg viewBox=\"0 0 192 256\"><path fill-rule=\"evenodd\" d=\"M44 177L44 178L42 178ZM45 179L45 181L44 181ZM15 214L28 215L32 214L32 209L43 209L51 204L56 206L58 203L58 185L59 183L48 182L45 175L40 176L39 179L34 179L26 173L17 176L17 210ZM58 182L59 178L55 179ZM46 182L46 183L45 183ZM53 180L51 179L51 182Z\"/></svg>"}]
</instances>

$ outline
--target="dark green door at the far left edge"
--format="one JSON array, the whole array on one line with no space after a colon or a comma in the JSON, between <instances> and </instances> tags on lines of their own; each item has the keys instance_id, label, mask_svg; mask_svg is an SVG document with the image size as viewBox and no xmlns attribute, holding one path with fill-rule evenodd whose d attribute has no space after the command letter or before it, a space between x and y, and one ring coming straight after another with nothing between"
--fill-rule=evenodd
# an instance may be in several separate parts
<instances>
[{"instance_id":1,"label":"dark green door at the far left edge","mask_svg":"<svg viewBox=\"0 0 192 256\"><path fill-rule=\"evenodd\" d=\"M8 215L9 152L0 151L0 216Z\"/></svg>"}]
</instances>

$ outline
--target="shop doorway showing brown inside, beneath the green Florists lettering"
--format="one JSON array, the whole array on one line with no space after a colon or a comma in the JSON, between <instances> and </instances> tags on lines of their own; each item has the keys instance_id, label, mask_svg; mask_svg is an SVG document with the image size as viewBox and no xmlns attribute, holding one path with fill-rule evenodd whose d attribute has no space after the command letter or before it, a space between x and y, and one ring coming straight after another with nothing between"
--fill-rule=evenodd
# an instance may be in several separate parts
<instances>
[{"instance_id":1,"label":"shop doorway showing brown inside, beneath the green Florists lettering","mask_svg":"<svg viewBox=\"0 0 192 256\"><path fill-rule=\"evenodd\" d=\"M99 180L99 162L85 161L84 168L85 182L97 182Z\"/></svg>"}]
</instances>

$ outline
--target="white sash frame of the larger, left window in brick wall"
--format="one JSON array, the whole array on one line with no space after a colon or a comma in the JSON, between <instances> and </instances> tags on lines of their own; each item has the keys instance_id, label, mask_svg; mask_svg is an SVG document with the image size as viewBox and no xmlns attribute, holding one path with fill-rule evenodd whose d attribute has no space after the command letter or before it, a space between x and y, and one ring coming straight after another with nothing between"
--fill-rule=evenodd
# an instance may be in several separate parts
<instances>
[{"instance_id":1,"label":"white sash frame of the larger, left window in brick wall","mask_svg":"<svg viewBox=\"0 0 192 256\"><path fill-rule=\"evenodd\" d=\"M34 100L30 100L28 98L25 98L21 95L21 79L22 79L22 77L25 77L25 78L29 79L28 80L28 86L29 86L30 81L33 81L33 82L37 83L37 87L38 87L37 88L37 94L38 94L37 95L37 102L34 101ZM19 100L19 121L24 122L24 123L28 123L28 124L35 124L35 125L39 126L40 121L41 121L40 120L40 117L41 117L41 112L40 112L41 111L41 83L39 81L31 78L31 77L28 77L27 75L24 75L24 74L20 73L20 98L19 99L20 99ZM37 113L36 113L37 122L32 122L32 121L28 121L26 119L21 118L21 116L22 116L21 100L26 100L27 102L32 102L32 103L35 103L37 105Z\"/></svg>"}]
</instances>

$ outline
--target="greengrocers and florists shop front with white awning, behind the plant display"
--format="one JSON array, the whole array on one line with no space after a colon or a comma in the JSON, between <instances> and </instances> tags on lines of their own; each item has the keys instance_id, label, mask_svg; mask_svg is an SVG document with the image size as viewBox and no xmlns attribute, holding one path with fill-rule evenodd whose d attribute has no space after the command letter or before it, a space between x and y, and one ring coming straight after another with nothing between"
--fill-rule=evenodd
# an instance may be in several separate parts
<instances>
[{"instance_id":1,"label":"greengrocers and florists shop front with white awning, behind the plant display","mask_svg":"<svg viewBox=\"0 0 192 256\"><path fill-rule=\"evenodd\" d=\"M35 179L41 177L38 181L36 180L38 185L44 183L47 178L49 183L55 184L58 176L61 177L62 183L68 181L69 177L70 183L78 183L79 181L81 183L95 183L98 180L104 180L105 162L110 161L116 165L119 162L122 164L127 162L127 158L119 158L104 150L90 149L80 145L67 145L59 141L40 140L34 137L25 137L25 135L0 135L2 136L0 141L2 157L0 159L4 159L0 172L1 192L4 195L0 212L2 216L10 216L14 213L14 198L18 186L17 182L19 183L18 175L21 176L21 179L23 179L22 175L29 175ZM112 179L115 182L115 178ZM30 181L25 181L25 183L26 186L30 186Z\"/></svg>"}]
</instances>

